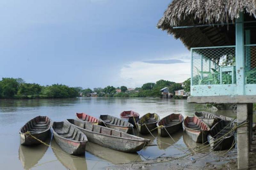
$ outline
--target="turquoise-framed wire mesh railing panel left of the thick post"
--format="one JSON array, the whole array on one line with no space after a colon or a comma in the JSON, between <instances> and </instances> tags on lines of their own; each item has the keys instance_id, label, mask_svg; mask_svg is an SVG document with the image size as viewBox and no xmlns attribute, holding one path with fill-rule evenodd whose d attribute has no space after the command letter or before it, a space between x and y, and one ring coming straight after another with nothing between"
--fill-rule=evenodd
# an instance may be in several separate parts
<instances>
[{"instance_id":1,"label":"turquoise-framed wire mesh railing panel left of the thick post","mask_svg":"<svg viewBox=\"0 0 256 170\"><path fill-rule=\"evenodd\" d=\"M235 46L191 48L191 55L191 85L236 83Z\"/></svg>"}]
</instances>

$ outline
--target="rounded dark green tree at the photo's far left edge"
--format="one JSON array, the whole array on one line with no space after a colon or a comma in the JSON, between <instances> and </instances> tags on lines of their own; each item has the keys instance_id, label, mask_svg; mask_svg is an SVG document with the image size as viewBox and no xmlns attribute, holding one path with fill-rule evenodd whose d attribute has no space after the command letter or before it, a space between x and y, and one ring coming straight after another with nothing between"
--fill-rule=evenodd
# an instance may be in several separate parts
<instances>
[{"instance_id":1,"label":"rounded dark green tree at the photo's far left edge","mask_svg":"<svg viewBox=\"0 0 256 170\"><path fill-rule=\"evenodd\" d=\"M4 98L12 98L18 92L19 84L15 78L2 78L0 82L2 96Z\"/></svg>"}]
</instances>

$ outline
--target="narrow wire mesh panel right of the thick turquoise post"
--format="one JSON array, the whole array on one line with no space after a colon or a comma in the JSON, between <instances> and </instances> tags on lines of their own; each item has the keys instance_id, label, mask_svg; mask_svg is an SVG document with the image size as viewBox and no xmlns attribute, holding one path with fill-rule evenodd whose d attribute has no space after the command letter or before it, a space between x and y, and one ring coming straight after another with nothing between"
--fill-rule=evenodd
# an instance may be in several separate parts
<instances>
[{"instance_id":1,"label":"narrow wire mesh panel right of the thick turquoise post","mask_svg":"<svg viewBox=\"0 0 256 170\"><path fill-rule=\"evenodd\" d=\"M245 45L245 84L256 84L256 45Z\"/></svg>"}]
</instances>

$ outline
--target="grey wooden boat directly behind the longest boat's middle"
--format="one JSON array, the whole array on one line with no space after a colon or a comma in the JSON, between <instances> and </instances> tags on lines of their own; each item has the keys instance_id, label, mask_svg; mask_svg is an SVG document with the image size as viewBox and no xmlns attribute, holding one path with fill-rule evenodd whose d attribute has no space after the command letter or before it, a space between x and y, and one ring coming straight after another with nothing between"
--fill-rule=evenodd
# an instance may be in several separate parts
<instances>
[{"instance_id":1,"label":"grey wooden boat directly behind the longest boat's middle","mask_svg":"<svg viewBox=\"0 0 256 170\"><path fill-rule=\"evenodd\" d=\"M119 130L124 133L133 133L132 123L125 122L117 117L111 115L100 115L100 121L102 121L108 128Z\"/></svg>"}]
</instances>

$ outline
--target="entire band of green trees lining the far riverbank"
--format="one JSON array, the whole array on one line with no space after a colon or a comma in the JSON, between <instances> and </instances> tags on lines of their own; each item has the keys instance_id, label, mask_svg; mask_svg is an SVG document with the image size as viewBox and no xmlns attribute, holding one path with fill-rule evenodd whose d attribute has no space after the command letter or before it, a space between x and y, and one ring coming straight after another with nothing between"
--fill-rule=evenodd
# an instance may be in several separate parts
<instances>
[{"instance_id":1,"label":"entire band of green trees lining the far riverbank","mask_svg":"<svg viewBox=\"0 0 256 170\"><path fill-rule=\"evenodd\" d=\"M83 89L82 87L69 87L62 84L39 85L26 83L22 78L2 78L0 81L0 99L49 99L73 98L79 96L97 97L161 97L161 89L168 87L169 92L175 94L176 90L190 90L190 80L175 83L168 80L145 83L141 87L127 88L126 86L114 87L108 85L104 88Z\"/></svg>"}]
</instances>

